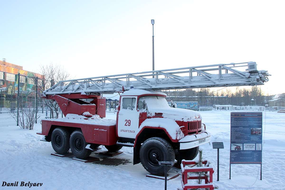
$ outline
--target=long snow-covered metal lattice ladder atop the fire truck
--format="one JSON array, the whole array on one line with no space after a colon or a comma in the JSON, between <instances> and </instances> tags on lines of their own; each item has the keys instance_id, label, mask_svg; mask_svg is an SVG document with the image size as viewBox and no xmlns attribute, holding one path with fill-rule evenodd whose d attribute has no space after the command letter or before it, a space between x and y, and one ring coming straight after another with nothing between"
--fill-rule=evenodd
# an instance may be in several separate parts
<instances>
[{"instance_id":1,"label":"long snow-covered metal lattice ladder atop the fire truck","mask_svg":"<svg viewBox=\"0 0 285 190\"><path fill-rule=\"evenodd\" d=\"M243 68L243 71L237 68ZM268 71L258 71L255 62L215 64L60 81L43 93L89 95L115 92L123 87L128 90L131 86L137 89L167 90L263 85L268 81L267 76Z\"/></svg>"}]
</instances>

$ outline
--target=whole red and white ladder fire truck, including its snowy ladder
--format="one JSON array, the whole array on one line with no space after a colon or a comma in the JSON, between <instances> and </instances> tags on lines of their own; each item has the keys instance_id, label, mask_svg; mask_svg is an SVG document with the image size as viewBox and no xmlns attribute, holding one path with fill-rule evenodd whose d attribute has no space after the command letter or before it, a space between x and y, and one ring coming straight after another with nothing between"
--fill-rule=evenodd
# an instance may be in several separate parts
<instances>
[{"instance_id":1,"label":"whole red and white ladder fire truck, including its snowy ladder","mask_svg":"<svg viewBox=\"0 0 285 190\"><path fill-rule=\"evenodd\" d=\"M77 158L88 157L100 145L110 152L122 146L133 147L133 164L142 163L150 173L162 174L165 170L159 161L176 159L180 164L182 159L192 160L211 135L198 112L170 107L166 94L156 91L260 85L268 81L267 71L255 70L255 62L241 64L251 70L241 72L226 66L230 64L217 64L60 81L44 91L42 97L56 101L65 118L43 119L42 132L38 134L44 135L43 140L51 142L57 153L71 149ZM115 91L121 93L117 118L107 120L106 101L101 95Z\"/></svg>"}]
</instances>

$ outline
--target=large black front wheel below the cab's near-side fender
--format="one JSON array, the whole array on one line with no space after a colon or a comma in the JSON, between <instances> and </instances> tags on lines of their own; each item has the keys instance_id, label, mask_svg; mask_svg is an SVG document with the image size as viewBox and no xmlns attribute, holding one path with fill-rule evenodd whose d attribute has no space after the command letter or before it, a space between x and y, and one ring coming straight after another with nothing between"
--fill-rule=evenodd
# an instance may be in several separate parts
<instances>
[{"instance_id":1,"label":"large black front wheel below the cab's near-side fender","mask_svg":"<svg viewBox=\"0 0 285 190\"><path fill-rule=\"evenodd\" d=\"M174 162L174 150L169 142L160 137L149 138L144 141L140 149L140 159L146 171L160 175L165 173L165 166L159 161ZM167 171L172 166L167 166Z\"/></svg>"}]
</instances>

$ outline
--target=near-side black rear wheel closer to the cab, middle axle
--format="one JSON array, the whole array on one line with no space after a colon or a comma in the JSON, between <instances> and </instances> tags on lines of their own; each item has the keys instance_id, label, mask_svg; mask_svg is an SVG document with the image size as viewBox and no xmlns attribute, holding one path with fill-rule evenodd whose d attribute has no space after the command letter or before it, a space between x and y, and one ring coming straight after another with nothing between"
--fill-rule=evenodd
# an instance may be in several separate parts
<instances>
[{"instance_id":1,"label":"near-side black rear wheel closer to the cab, middle axle","mask_svg":"<svg viewBox=\"0 0 285 190\"><path fill-rule=\"evenodd\" d=\"M81 130L75 130L70 135L70 149L76 158L87 158L92 150L85 148L87 143Z\"/></svg>"}]
</instances>

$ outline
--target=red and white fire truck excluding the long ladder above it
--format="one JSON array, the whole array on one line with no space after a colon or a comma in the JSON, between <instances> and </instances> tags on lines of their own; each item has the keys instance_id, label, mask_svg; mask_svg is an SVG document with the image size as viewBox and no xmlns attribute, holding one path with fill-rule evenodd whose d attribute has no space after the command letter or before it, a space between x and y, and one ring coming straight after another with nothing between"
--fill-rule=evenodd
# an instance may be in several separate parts
<instances>
[{"instance_id":1,"label":"red and white fire truck excluding the long ladder above it","mask_svg":"<svg viewBox=\"0 0 285 190\"><path fill-rule=\"evenodd\" d=\"M182 159L192 160L211 136L202 127L198 112L169 107L165 97L155 91L125 91L120 96L117 119L106 120L106 101L98 95L46 95L44 98L58 103L65 118L43 119L42 132L37 134L51 141L56 152L71 148L78 158L89 156L90 149L99 145L110 152L133 147L133 164L142 162L150 173L162 174L164 167L158 161L174 162L175 158L180 164Z\"/></svg>"}]
</instances>

